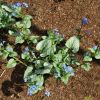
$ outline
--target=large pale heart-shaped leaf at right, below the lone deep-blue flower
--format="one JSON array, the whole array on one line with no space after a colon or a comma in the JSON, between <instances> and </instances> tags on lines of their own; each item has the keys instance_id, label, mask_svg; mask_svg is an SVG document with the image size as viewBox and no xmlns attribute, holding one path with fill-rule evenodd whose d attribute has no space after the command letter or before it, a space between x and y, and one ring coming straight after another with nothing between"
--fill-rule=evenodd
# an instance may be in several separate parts
<instances>
[{"instance_id":1,"label":"large pale heart-shaped leaf at right, below the lone deep-blue flower","mask_svg":"<svg viewBox=\"0 0 100 100\"><path fill-rule=\"evenodd\" d=\"M67 40L65 45L67 48L72 49L73 53L76 53L79 51L79 46L80 46L79 38L77 36L73 36Z\"/></svg>"}]
</instances>

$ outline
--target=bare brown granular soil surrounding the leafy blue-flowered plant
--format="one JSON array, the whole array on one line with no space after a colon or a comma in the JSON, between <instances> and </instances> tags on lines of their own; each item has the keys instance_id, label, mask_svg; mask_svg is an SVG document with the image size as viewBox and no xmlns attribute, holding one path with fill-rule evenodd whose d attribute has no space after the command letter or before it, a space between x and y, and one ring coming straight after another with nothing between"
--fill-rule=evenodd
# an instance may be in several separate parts
<instances>
[{"instance_id":1,"label":"bare brown granular soil surrounding the leafy blue-flowered plant","mask_svg":"<svg viewBox=\"0 0 100 100\"><path fill-rule=\"evenodd\" d=\"M47 29L58 28L68 38L77 34L75 28L80 26L82 17L87 17L89 25L84 29L92 34L85 35L81 48L93 46L95 41L100 41L100 0L7 1L29 3L26 12L33 16L33 33L42 34ZM51 92L50 97L44 97L44 91L32 97L27 96L27 87L22 82L23 72L21 66L6 70L0 78L0 100L100 100L100 61L95 60L89 72L79 68L67 86L50 77L45 82L45 88Z\"/></svg>"}]
</instances>

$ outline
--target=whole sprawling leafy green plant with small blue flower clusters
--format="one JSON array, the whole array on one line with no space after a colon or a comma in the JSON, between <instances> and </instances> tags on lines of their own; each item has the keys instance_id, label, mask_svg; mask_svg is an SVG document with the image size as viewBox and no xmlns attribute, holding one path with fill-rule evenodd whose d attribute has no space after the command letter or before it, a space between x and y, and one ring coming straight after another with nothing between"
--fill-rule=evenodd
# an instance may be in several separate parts
<instances>
[{"instance_id":1,"label":"whole sprawling leafy green plant with small blue flower clusters","mask_svg":"<svg viewBox=\"0 0 100 100\"><path fill-rule=\"evenodd\" d=\"M46 36L31 34L32 17L24 15L23 7L28 5L0 2L0 30L3 30L0 32L0 59L7 62L7 68L14 68L18 64L26 67L23 79L28 86L29 95L44 88L46 75L55 76L67 84L69 78L75 75L78 66L88 71L92 58L100 59L100 48L97 46L89 48L83 63L80 63L76 55L80 48L79 34L68 40L57 29L49 30ZM82 25L85 24L88 24L87 18L82 19ZM3 37L6 35L14 37L14 43L5 40ZM24 47L20 49L20 54L16 50L18 45Z\"/></svg>"}]
</instances>

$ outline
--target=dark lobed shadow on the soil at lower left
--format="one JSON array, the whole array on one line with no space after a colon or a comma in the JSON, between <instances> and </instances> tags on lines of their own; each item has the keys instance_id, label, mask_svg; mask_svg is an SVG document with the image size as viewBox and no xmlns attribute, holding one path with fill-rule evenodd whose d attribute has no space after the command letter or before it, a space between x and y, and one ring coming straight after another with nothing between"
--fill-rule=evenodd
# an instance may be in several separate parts
<instances>
[{"instance_id":1,"label":"dark lobed shadow on the soil at lower left","mask_svg":"<svg viewBox=\"0 0 100 100\"><path fill-rule=\"evenodd\" d=\"M12 94L18 98L18 93L23 91L22 86L24 86L23 75L25 72L25 67L22 65L16 66L11 74L11 80L5 80L2 83L2 92L5 96L11 96Z\"/></svg>"}]
</instances>

